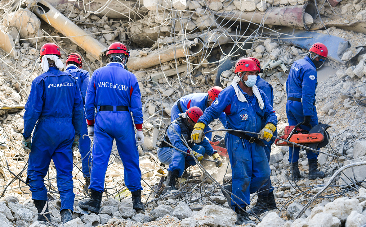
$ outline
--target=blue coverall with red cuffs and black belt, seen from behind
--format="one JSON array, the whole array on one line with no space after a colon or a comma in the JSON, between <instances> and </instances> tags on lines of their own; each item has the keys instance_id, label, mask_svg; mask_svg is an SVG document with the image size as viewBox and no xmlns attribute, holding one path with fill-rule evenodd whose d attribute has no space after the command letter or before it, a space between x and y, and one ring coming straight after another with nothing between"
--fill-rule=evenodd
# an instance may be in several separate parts
<instances>
[{"instance_id":1,"label":"blue coverall with red cuffs and black belt, seen from behind","mask_svg":"<svg viewBox=\"0 0 366 227\"><path fill-rule=\"evenodd\" d=\"M113 106L113 111L100 111L100 106ZM129 111L117 111L117 106ZM104 191L104 177L111 155L113 139L123 160L124 183L130 191L142 190L139 155L135 129L142 129L141 93L136 76L123 65L110 62L94 71L90 78L85 98L85 113L88 122L94 121L94 146L89 189Z\"/></svg>"}]
</instances>

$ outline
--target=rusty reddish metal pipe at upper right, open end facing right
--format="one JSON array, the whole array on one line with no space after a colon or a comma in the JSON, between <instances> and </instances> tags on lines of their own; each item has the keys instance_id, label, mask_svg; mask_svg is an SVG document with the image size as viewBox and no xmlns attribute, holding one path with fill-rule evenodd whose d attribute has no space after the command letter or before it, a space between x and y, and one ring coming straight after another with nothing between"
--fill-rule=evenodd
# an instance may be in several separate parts
<instances>
[{"instance_id":1,"label":"rusty reddish metal pipe at upper right, open end facing right","mask_svg":"<svg viewBox=\"0 0 366 227\"><path fill-rule=\"evenodd\" d=\"M273 7L265 12L242 12L233 10L230 12L222 12L215 14L216 16L229 19L231 21L264 23L266 25L281 25L288 27L301 27L309 30L305 23L305 13L308 13L315 19L317 10L313 3L307 2L303 5Z\"/></svg>"}]
</instances>

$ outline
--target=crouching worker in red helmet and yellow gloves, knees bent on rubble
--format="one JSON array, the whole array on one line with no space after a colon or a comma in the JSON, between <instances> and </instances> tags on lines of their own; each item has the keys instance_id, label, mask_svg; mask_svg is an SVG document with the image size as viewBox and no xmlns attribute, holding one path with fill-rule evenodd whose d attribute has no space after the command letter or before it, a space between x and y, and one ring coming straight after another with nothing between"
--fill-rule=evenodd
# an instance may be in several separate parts
<instances>
[{"instance_id":1,"label":"crouching worker in red helmet and yellow gloves, knees bent on rubble","mask_svg":"<svg viewBox=\"0 0 366 227\"><path fill-rule=\"evenodd\" d=\"M198 118L202 114L202 110L197 106L190 107L185 113L180 114L177 119L168 125L165 131L165 138L157 150L161 163L169 164L167 186L170 186L172 189L176 189L176 178L182 176L184 170L189 166L196 165L191 155L184 154L179 150L193 154L198 161L203 161L203 155L208 154L214 158L217 167L222 165L220 155L217 154L216 150L213 150L208 140L203 139L202 142L197 144L188 142L188 146L192 149L192 152L190 152L190 149L180 138L183 136L186 141L190 140L194 124L197 123ZM174 149L170 144L179 150Z\"/></svg>"}]
</instances>

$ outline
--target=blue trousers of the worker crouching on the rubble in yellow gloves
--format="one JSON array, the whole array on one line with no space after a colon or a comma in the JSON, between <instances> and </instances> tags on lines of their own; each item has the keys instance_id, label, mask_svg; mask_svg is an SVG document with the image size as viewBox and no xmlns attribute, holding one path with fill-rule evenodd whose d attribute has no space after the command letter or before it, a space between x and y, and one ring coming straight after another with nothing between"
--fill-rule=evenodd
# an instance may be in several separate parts
<instances>
[{"instance_id":1,"label":"blue trousers of the worker crouching on the rubble in yellow gloves","mask_svg":"<svg viewBox=\"0 0 366 227\"><path fill-rule=\"evenodd\" d=\"M192 150L205 155L205 148L201 145L194 144ZM175 150L173 147L163 147L157 150L158 159L161 163L165 165L169 165L168 170L179 171L179 176L181 176L185 170L186 164L188 165L196 165L193 157L187 154L183 154L182 152Z\"/></svg>"}]
</instances>

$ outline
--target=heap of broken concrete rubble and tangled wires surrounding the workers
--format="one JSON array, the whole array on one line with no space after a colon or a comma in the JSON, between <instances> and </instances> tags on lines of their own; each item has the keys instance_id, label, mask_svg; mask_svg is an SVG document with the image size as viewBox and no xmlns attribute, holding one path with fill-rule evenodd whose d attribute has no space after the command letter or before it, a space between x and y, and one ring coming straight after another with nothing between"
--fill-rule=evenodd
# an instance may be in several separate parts
<instances>
[{"instance_id":1,"label":"heap of broken concrete rubble and tangled wires surrounding the workers","mask_svg":"<svg viewBox=\"0 0 366 227\"><path fill-rule=\"evenodd\" d=\"M316 96L319 121L332 126L328 129L330 146L322 148L322 151L334 153L338 158L320 154L318 166L325 172L325 178L309 180L306 152L300 151L302 178L294 184L288 180L288 147L273 146L270 178L279 209L261 215L262 222L252 218L256 224L248 226L354 227L366 224L364 165L348 168L334 176L331 186L325 188L321 196L296 219L340 166L366 161L366 32L362 27L366 19L366 4L363 1L342 0L337 4L335 0L329 1L332 5L328 1L317 1L314 11L308 8L309 11L303 15L305 26L302 29L309 29L312 33L308 32L306 37L295 37L297 41L292 44L286 40L294 39L291 35L293 26L269 22L259 26L253 21L249 25L243 18L242 22L227 23L229 20L222 18L230 11L253 14L257 10L265 15L272 6L301 8L308 4L303 0L154 0L131 1L125 6L119 3L105 5L106 2L96 1L87 9L76 2L49 1L68 23L78 27L101 47L121 41L131 52L127 66L138 78L144 114L145 143L138 149L143 174L142 201L146 202L146 212L136 213L132 209L131 193L124 186L123 165L115 146L106 173L100 214L81 210L78 201L86 197L82 190L85 180L79 170L81 156L74 152L75 212L74 219L64 227L234 226L235 212L229 209L221 188L203 175L197 166L188 170L192 179L187 182L182 179L181 185L187 184L189 190L155 193L161 177L167 173L167 166L157 159L156 150L165 126L170 122L171 107L184 95L207 92L214 85L229 86L234 78L234 63L243 56L253 56L262 64L262 78L273 86L274 109L279 120L277 129L279 135L283 135L284 127L288 125L284 83L291 64L307 53L307 48L301 46L301 40L314 39L315 36L310 34L321 34L321 37L329 34L346 40L335 44L335 54L340 61L326 61L318 70ZM79 52L83 68L90 74L105 64L105 59L100 57L101 51L94 55L85 51L87 49L75 44L72 37L65 37L70 34L52 27L45 18L40 20L27 8L29 3L16 4L15 0L0 3L0 48L3 50L0 51L1 227L48 226L37 221L29 186L24 183L28 154L20 147L22 108L31 82L42 73L38 55L41 45L49 41L57 43L63 62L70 52ZM128 9L131 14L128 14ZM320 18L316 17L317 9ZM295 28L299 29L299 26L295 25ZM281 32L286 29L291 32ZM211 126L213 129L222 127L219 120L213 121ZM217 134L224 135L223 132ZM228 162L228 158L224 158L224 163ZM227 172L226 164L217 169L213 162L205 161L203 166L220 184L230 182L230 166ZM60 201L59 195L54 193L57 185L52 163L46 177L50 179L46 187L52 187L52 192L49 192L52 222L60 225ZM256 195L251 195L251 206L255 205L256 198Z\"/></svg>"}]
</instances>

